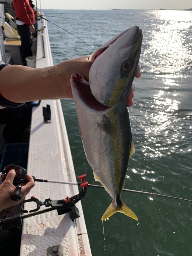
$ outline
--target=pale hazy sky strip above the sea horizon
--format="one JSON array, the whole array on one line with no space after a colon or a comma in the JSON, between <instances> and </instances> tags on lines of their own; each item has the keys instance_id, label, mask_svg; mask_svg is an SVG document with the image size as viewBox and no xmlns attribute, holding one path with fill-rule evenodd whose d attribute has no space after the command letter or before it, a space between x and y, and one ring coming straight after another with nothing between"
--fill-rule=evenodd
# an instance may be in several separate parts
<instances>
[{"instance_id":1,"label":"pale hazy sky strip above the sea horizon","mask_svg":"<svg viewBox=\"0 0 192 256\"><path fill-rule=\"evenodd\" d=\"M40 8L40 0L33 3ZM192 0L41 0L42 9L107 10L107 9L189 9Z\"/></svg>"}]
</instances>

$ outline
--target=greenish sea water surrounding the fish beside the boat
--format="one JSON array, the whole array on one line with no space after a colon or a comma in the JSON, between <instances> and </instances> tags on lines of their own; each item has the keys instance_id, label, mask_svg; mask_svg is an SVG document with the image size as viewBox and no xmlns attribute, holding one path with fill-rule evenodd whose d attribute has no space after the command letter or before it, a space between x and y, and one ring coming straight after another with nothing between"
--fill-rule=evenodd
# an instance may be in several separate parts
<instances>
[{"instance_id":1,"label":"greenish sea water surrounding the fish beside the boat","mask_svg":"<svg viewBox=\"0 0 192 256\"><path fill-rule=\"evenodd\" d=\"M44 13L86 42L48 22L54 64L91 54L91 45L97 49L133 25L142 28L142 77L134 80L135 104L129 108L135 154L124 188L192 199L192 12ZM90 184L98 184L84 154L74 101L65 99L61 104L76 175L86 173ZM105 190L88 188L82 199L93 256L192 255L192 203L130 192L123 192L121 199L138 222L116 213L104 223L104 234L101 216L110 196Z\"/></svg>"}]
</instances>

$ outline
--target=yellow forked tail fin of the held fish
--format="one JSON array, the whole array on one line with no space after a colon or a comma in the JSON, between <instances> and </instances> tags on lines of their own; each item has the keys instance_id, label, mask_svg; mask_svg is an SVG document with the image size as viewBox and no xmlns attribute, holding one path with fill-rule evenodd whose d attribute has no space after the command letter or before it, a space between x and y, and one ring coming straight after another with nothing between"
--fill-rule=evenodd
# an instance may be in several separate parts
<instances>
[{"instance_id":1,"label":"yellow forked tail fin of the held fish","mask_svg":"<svg viewBox=\"0 0 192 256\"><path fill-rule=\"evenodd\" d=\"M112 201L112 203L109 205L109 207L107 208L107 210L103 214L101 220L104 221L104 220L108 219L109 217L111 217L116 212L122 212L125 215L127 215L128 217L131 217L134 220L138 220L135 213L132 212L132 210L129 209L129 207L126 204L124 204L122 201L119 201L119 204L116 205L116 206L115 206L115 202Z\"/></svg>"}]
</instances>

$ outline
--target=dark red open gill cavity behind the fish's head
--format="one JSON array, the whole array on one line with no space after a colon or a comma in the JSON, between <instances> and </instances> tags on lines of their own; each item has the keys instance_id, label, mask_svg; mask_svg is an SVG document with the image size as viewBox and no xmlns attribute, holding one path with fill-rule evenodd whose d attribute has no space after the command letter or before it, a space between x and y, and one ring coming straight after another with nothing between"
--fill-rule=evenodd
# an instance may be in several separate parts
<instances>
[{"instance_id":1,"label":"dark red open gill cavity behind the fish's head","mask_svg":"<svg viewBox=\"0 0 192 256\"><path fill-rule=\"evenodd\" d=\"M110 108L101 104L98 100L95 99L95 97L92 95L89 82L87 82L80 73L72 75L72 77L74 86L78 91L79 96L88 107L97 111L105 111Z\"/></svg>"}]
</instances>

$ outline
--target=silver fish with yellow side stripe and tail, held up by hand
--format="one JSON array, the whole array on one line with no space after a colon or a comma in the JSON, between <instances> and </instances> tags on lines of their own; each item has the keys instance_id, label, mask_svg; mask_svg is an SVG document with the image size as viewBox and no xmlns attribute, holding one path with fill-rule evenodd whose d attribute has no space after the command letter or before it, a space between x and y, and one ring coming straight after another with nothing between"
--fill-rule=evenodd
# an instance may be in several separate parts
<instances>
[{"instance_id":1,"label":"silver fish with yellow side stripe and tail, held up by hand","mask_svg":"<svg viewBox=\"0 0 192 256\"><path fill-rule=\"evenodd\" d=\"M134 153L126 98L139 64L143 34L133 26L92 53L89 81L71 76L79 132L95 180L112 197L104 221L116 212L138 220L120 196L129 160Z\"/></svg>"}]
</instances>

